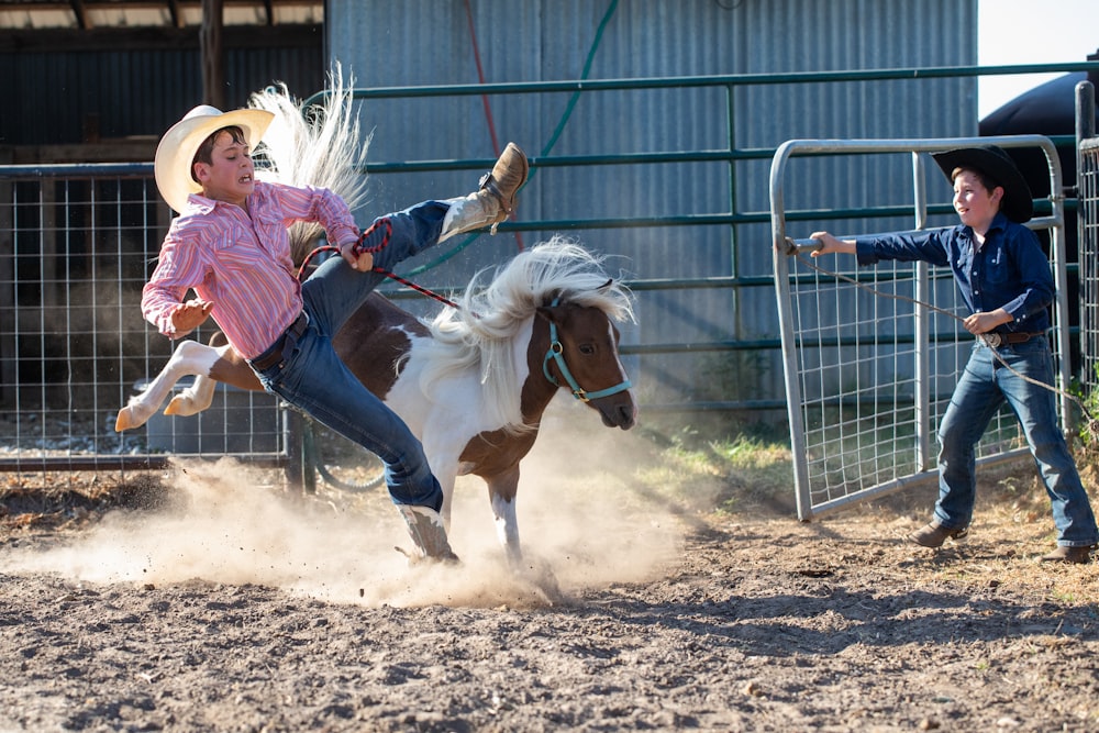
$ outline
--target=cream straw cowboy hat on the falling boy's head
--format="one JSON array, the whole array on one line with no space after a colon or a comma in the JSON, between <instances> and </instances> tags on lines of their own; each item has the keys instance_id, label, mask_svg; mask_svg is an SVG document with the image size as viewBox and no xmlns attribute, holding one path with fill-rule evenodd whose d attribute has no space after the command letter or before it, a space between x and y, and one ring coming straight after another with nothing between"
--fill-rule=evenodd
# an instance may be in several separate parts
<instances>
[{"instance_id":1,"label":"cream straw cowboy hat on the falling boy's head","mask_svg":"<svg viewBox=\"0 0 1099 733\"><path fill-rule=\"evenodd\" d=\"M187 197L202 190L191 178L191 163L202 141L222 127L235 125L244 131L244 140L254 151L274 119L274 114L264 110L222 112L215 107L200 104L171 125L156 146L153 168L156 187L173 211L182 212Z\"/></svg>"}]
</instances>

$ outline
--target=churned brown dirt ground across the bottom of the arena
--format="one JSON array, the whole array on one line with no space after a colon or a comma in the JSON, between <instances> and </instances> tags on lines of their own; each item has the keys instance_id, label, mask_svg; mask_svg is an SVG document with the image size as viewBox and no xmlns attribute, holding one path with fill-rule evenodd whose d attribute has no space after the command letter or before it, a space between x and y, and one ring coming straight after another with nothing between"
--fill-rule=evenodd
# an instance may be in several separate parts
<instances>
[{"instance_id":1,"label":"churned brown dirt ground across the bottom of the arena","mask_svg":"<svg viewBox=\"0 0 1099 733\"><path fill-rule=\"evenodd\" d=\"M636 453L573 449L525 465L523 574L475 481L445 568L393 549L384 496L227 462L11 486L0 730L1099 730L1096 566L1035 560L1031 467L935 552L904 541L929 491L800 523L792 496L665 496Z\"/></svg>"}]
</instances>

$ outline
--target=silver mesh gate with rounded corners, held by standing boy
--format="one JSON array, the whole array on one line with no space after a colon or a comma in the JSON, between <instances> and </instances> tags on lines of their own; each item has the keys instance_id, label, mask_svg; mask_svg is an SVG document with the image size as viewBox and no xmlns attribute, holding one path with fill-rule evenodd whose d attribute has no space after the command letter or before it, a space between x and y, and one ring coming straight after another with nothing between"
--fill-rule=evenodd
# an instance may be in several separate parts
<instances>
[{"instance_id":1,"label":"silver mesh gate with rounded corners, held by standing boy","mask_svg":"<svg viewBox=\"0 0 1099 733\"><path fill-rule=\"evenodd\" d=\"M810 520L854 501L937 480L935 431L973 337L953 318L929 310L933 303L962 313L948 268L925 263L884 263L855 270L854 257L825 257L811 266L813 241L788 242L788 220L799 226L828 229L820 222L836 214L791 209L786 200L798 159L813 156L911 157L914 230L930 227L941 214L957 222L953 207L928 200L926 169L937 178L934 190L945 193L929 153L953 147L996 144L1004 148L1037 148L1045 154L1050 190L1062 190L1061 164L1054 144L1044 136L790 141L771 163L770 199L775 292L780 316L790 442L793 452L798 517ZM873 158L872 158L873 165ZM791 211L792 214L791 215ZM870 210L873 212L873 210ZM881 215L899 209L882 207ZM1053 347L1061 384L1069 381L1068 302L1065 264L1064 200L1050 198L1036 207L1028 224L1048 230L1050 255L1057 295L1053 313ZM815 224L811 223L815 222ZM841 236L840 232L834 232ZM843 235L850 235L844 232ZM795 246L789 246L793 244ZM830 262L825 262L830 260ZM1083 278L1081 278L1083 279ZM1061 398L1062 415L1069 399ZM1026 451L1012 413L1004 408L981 441L980 464L1013 458Z\"/></svg>"}]
</instances>

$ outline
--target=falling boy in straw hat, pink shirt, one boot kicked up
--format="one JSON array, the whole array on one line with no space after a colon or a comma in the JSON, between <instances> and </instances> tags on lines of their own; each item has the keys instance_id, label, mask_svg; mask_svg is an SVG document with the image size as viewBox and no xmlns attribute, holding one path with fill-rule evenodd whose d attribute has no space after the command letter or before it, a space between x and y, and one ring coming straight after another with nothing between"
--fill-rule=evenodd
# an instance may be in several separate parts
<instances>
[{"instance_id":1,"label":"falling boy in straw hat, pink shirt, one boot kicked up","mask_svg":"<svg viewBox=\"0 0 1099 733\"><path fill-rule=\"evenodd\" d=\"M179 216L142 295L142 314L169 338L213 316L264 388L375 453L420 558L456 560L443 526L443 492L403 421L344 366L332 337L401 260L458 234L503 221L526 181L509 143L480 188L375 220L365 233L324 188L255 179L252 153L273 114L200 105L156 151L157 188ZM299 282L287 227L321 224L340 257ZM188 290L197 298L185 301Z\"/></svg>"}]
</instances>

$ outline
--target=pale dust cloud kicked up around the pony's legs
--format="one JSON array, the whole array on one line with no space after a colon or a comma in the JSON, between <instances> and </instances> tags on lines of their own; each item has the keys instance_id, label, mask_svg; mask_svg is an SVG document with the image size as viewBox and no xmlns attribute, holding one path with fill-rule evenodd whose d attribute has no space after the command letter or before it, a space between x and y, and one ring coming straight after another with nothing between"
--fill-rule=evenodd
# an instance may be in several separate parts
<instances>
[{"instance_id":1,"label":"pale dust cloud kicked up around the pony's legs","mask_svg":"<svg viewBox=\"0 0 1099 733\"><path fill-rule=\"evenodd\" d=\"M367 496L289 495L274 471L230 459L177 462L169 509L113 511L70 542L19 553L10 570L88 582L201 580L278 587L331 602L420 607L541 606L586 588L659 577L680 527L633 475L652 446L556 404L522 464L518 503L524 567L508 566L485 484L459 477L451 544L457 566L410 565L411 541L385 489ZM582 425L582 426L581 426Z\"/></svg>"}]
</instances>

